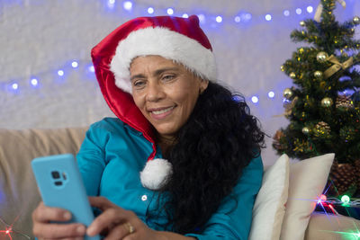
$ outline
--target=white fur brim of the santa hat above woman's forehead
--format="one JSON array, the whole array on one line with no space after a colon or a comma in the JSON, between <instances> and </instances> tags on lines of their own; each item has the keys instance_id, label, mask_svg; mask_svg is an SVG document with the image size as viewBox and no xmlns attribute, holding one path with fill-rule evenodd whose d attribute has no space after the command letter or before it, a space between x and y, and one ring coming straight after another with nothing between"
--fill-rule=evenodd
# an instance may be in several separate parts
<instances>
[{"instance_id":1,"label":"white fur brim of the santa hat above woman's forehead","mask_svg":"<svg viewBox=\"0 0 360 240\"><path fill-rule=\"evenodd\" d=\"M197 76L216 81L216 64L211 49L206 49L177 31L161 27L148 27L132 31L119 42L110 69L115 84L124 92L131 93L130 63L139 56L158 55L183 64Z\"/></svg>"}]
</instances>

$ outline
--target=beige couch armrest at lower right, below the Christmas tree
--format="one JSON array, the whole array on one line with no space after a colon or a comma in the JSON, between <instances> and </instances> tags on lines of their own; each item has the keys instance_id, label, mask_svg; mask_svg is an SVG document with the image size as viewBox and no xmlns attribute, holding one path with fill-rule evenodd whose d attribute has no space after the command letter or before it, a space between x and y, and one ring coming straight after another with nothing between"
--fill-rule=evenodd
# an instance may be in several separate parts
<instances>
[{"instance_id":1,"label":"beige couch armrest at lower right, below the Christmas tree","mask_svg":"<svg viewBox=\"0 0 360 240\"><path fill-rule=\"evenodd\" d=\"M342 215L320 212L311 214L309 226L305 232L307 240L359 239L360 221Z\"/></svg>"}]
</instances>

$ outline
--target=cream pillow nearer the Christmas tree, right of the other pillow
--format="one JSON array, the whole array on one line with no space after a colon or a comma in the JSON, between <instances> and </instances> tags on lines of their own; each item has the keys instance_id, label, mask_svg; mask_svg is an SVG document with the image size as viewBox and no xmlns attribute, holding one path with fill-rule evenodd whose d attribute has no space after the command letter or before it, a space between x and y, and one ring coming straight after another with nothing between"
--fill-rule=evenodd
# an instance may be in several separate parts
<instances>
[{"instance_id":1,"label":"cream pillow nearer the Christmas tree, right of the other pillow","mask_svg":"<svg viewBox=\"0 0 360 240\"><path fill-rule=\"evenodd\" d=\"M289 196L280 240L303 240L311 213L328 181L335 154L290 164Z\"/></svg>"}]
</instances>

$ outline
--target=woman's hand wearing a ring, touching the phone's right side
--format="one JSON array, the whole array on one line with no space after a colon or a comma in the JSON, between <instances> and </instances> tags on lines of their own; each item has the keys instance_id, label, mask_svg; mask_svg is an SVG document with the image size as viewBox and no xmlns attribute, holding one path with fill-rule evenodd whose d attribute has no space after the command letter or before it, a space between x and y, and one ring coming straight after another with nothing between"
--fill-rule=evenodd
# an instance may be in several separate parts
<instances>
[{"instance_id":1,"label":"woman's hand wearing a ring, touching the phone's right side","mask_svg":"<svg viewBox=\"0 0 360 240\"><path fill-rule=\"evenodd\" d=\"M103 197L89 197L90 204L103 212L87 228L88 236L105 233L106 240L111 239L160 239L157 231L147 227L135 213L121 209Z\"/></svg>"}]
</instances>

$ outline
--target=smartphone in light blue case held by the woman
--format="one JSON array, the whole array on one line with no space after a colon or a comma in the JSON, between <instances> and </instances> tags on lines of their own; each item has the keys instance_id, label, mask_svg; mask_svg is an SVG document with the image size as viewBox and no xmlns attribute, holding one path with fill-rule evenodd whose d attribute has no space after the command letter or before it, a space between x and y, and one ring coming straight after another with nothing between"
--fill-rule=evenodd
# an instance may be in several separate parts
<instances>
[{"instance_id":1,"label":"smartphone in light blue case held by the woman","mask_svg":"<svg viewBox=\"0 0 360 240\"><path fill-rule=\"evenodd\" d=\"M44 204L71 212L72 218L65 223L82 223L88 227L93 222L94 213L73 155L37 157L31 161L31 167ZM100 236L84 239L98 240Z\"/></svg>"}]
</instances>

